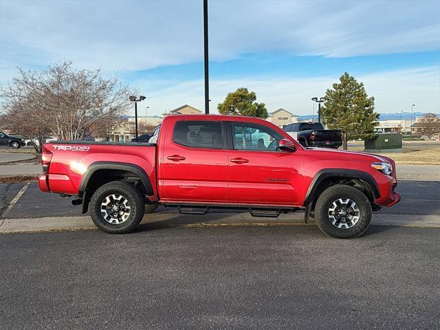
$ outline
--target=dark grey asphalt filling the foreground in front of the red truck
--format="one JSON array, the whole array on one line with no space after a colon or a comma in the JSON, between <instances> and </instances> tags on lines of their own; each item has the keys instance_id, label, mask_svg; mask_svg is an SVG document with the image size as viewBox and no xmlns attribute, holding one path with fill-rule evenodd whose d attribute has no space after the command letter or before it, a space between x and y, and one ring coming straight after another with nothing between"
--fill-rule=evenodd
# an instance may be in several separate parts
<instances>
[{"instance_id":1,"label":"dark grey asphalt filling the foreground in front of the red truck","mask_svg":"<svg viewBox=\"0 0 440 330\"><path fill-rule=\"evenodd\" d=\"M2 329L438 329L440 229L0 235ZM7 265L7 267L4 267Z\"/></svg>"}]
</instances>

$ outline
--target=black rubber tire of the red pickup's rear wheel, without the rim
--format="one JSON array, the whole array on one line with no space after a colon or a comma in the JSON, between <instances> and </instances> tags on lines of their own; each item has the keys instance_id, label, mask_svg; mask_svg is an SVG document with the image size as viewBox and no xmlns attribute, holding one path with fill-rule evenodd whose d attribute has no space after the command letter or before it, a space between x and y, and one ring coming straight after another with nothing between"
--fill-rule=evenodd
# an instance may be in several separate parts
<instances>
[{"instance_id":1,"label":"black rubber tire of the red pickup's rear wheel, without the rim","mask_svg":"<svg viewBox=\"0 0 440 330\"><path fill-rule=\"evenodd\" d=\"M123 196L131 208L129 217L122 223L115 224L107 222L101 214L101 203L109 195L116 194ZM144 197L139 190L131 184L122 181L111 181L100 186L91 197L89 203L91 219L96 227L109 234L126 234L134 230L144 217Z\"/></svg>"}]
</instances>

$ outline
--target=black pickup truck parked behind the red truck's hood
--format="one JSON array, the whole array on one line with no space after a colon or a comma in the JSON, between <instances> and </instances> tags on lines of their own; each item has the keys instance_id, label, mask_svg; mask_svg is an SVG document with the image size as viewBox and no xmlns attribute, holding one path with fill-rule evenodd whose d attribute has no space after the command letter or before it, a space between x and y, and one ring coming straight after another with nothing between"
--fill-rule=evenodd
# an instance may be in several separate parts
<instances>
[{"instance_id":1,"label":"black pickup truck parked behind the red truck's hood","mask_svg":"<svg viewBox=\"0 0 440 330\"><path fill-rule=\"evenodd\" d=\"M290 136L303 146L339 148L342 145L341 131L324 129L320 122L296 122L284 127Z\"/></svg>"}]
</instances>

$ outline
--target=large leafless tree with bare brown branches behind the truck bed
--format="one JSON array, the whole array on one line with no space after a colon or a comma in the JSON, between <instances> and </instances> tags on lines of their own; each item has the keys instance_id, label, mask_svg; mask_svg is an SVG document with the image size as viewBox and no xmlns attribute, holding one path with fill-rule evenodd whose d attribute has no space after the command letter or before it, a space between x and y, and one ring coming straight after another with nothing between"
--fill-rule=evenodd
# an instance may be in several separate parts
<instances>
[{"instance_id":1,"label":"large leafless tree with bare brown branches behind the truck bed","mask_svg":"<svg viewBox=\"0 0 440 330\"><path fill-rule=\"evenodd\" d=\"M30 138L39 138L36 132L42 131L61 140L84 140L98 130L109 131L129 109L131 94L117 78L102 78L99 69L75 69L63 62L43 72L19 68L18 76L2 88L1 109L12 126L20 118L17 133ZM23 124L25 120L30 123Z\"/></svg>"}]
</instances>

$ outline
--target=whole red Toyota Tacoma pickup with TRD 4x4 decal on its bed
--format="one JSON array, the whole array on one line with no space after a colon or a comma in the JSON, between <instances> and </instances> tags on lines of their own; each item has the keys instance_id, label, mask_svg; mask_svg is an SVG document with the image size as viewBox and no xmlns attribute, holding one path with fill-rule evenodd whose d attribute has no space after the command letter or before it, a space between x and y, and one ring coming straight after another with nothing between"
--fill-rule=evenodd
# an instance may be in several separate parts
<instances>
[{"instance_id":1,"label":"whole red Toyota Tacoma pickup with TRD 4x4 decal on its bed","mask_svg":"<svg viewBox=\"0 0 440 330\"><path fill-rule=\"evenodd\" d=\"M230 115L168 115L155 144L47 143L45 192L76 196L105 232L131 232L145 207L184 214L241 208L277 217L305 210L330 236L352 238L373 210L400 199L393 159L304 148L265 120Z\"/></svg>"}]
</instances>

